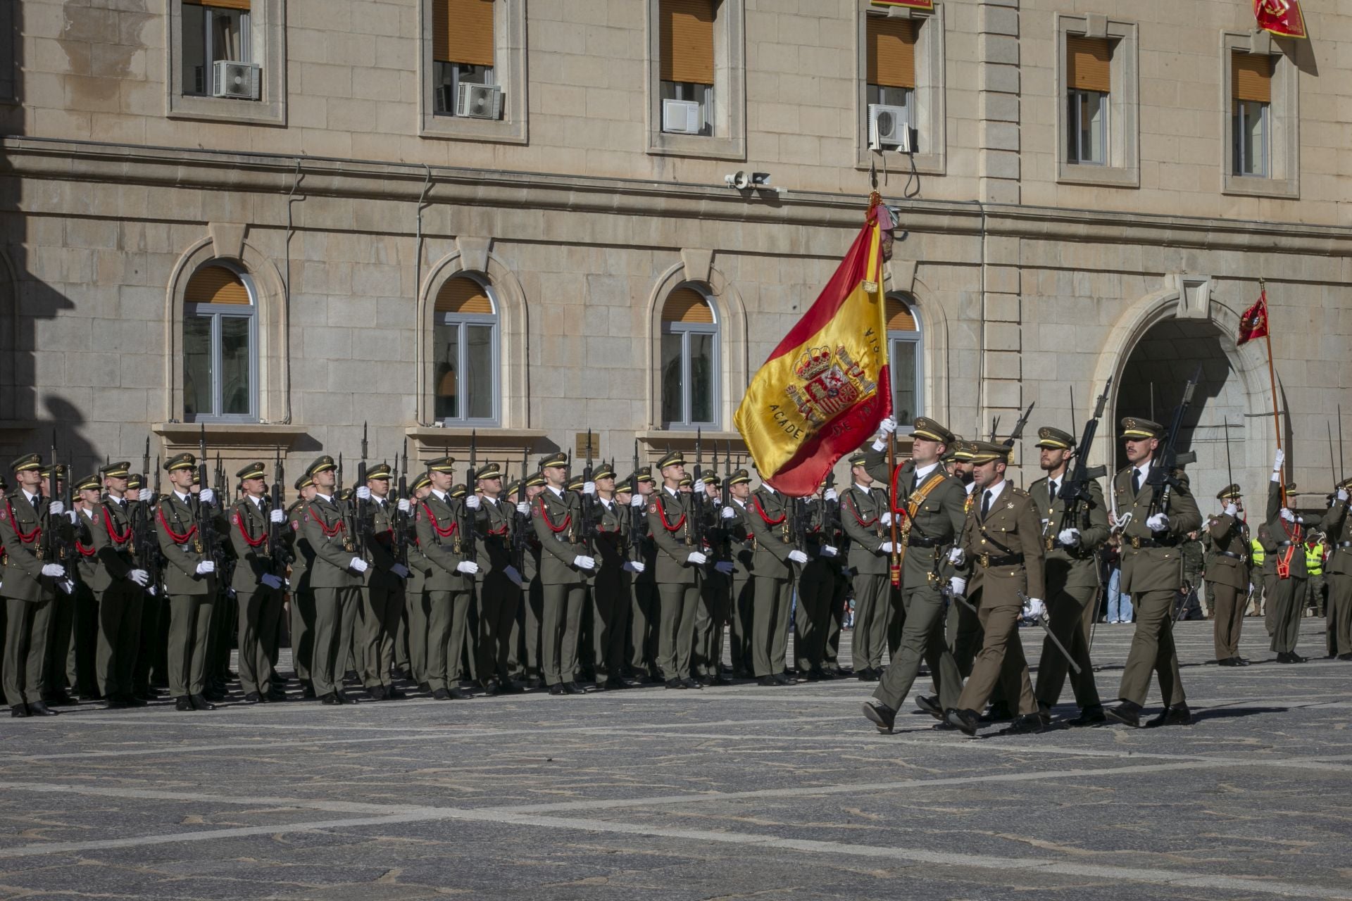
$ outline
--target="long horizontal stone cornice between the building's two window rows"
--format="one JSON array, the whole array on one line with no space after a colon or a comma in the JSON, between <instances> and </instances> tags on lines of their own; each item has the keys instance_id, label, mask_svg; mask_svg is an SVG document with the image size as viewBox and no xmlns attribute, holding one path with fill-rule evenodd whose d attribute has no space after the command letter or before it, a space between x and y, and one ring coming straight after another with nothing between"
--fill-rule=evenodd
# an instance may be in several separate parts
<instances>
[{"instance_id":1,"label":"long horizontal stone cornice between the building's two window rows","mask_svg":"<svg viewBox=\"0 0 1352 901\"><path fill-rule=\"evenodd\" d=\"M299 186L297 185L299 173ZM0 176L234 189L427 203L660 216L815 228L854 228L861 197L826 192L735 192L722 185L499 172L324 157L142 147L31 136L0 138ZM949 200L899 200L918 234L987 235L1202 250L1352 255L1352 228L1302 223L1161 216L1119 211ZM735 250L735 249L729 249Z\"/></svg>"}]
</instances>

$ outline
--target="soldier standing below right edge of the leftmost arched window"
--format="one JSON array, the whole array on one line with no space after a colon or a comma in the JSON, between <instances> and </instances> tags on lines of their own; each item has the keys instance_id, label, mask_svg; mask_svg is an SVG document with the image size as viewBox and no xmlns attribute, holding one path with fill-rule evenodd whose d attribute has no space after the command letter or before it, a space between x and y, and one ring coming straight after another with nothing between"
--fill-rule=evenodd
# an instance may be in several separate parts
<instances>
[{"instance_id":1,"label":"soldier standing below right edge of the leftmost arched window","mask_svg":"<svg viewBox=\"0 0 1352 901\"><path fill-rule=\"evenodd\" d=\"M230 508L230 543L235 550L230 586L239 616L239 688L249 704L285 700L281 686L272 681L272 648L281 625L285 577L277 574L269 552L268 530L272 523L284 523L287 512L268 509L264 471L264 465L254 462L235 473L245 496Z\"/></svg>"}]
</instances>

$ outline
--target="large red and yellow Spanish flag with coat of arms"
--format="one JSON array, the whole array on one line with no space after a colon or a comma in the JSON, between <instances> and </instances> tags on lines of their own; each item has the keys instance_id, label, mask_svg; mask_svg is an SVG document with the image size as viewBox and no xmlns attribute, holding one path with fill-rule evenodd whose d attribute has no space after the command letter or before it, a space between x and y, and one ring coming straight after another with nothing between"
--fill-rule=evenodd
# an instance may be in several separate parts
<instances>
[{"instance_id":1,"label":"large red and yellow Spanish flag with coat of arms","mask_svg":"<svg viewBox=\"0 0 1352 901\"><path fill-rule=\"evenodd\" d=\"M733 421L761 478L806 497L892 412L883 297L887 207L868 219L817 303L752 378Z\"/></svg>"}]
</instances>

